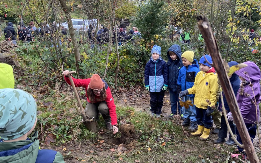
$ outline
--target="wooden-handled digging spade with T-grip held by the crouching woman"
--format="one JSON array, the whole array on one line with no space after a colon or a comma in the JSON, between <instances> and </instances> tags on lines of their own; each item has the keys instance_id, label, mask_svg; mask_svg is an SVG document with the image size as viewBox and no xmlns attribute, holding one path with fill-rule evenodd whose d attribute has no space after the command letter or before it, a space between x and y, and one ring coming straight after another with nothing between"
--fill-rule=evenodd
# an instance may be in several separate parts
<instances>
[{"instance_id":1,"label":"wooden-handled digging spade with T-grip held by the crouching woman","mask_svg":"<svg viewBox=\"0 0 261 163\"><path fill-rule=\"evenodd\" d=\"M83 107L82 107L82 104L81 104L81 101L80 101L78 92L77 92L77 90L76 90L76 87L75 87L75 85L74 85L74 83L73 83L73 78L72 78L72 76L71 76L71 74L74 74L74 73L76 73L76 72L75 72L75 71L70 71L68 77L69 77L69 79L70 79L71 85L72 85L72 87L73 87L74 94L75 94L75 96L76 96L78 105L79 105L80 110L81 110L81 113L82 113L83 123L84 123L85 127L86 127L88 130L90 130L90 131L92 131L92 132L97 132L96 122L95 122L94 118L91 119L90 117L88 117L88 119L87 119L87 117L86 117L86 115L85 115L85 111L84 111L84 109L83 109ZM62 75L63 75L63 74L62 74Z\"/></svg>"}]
</instances>

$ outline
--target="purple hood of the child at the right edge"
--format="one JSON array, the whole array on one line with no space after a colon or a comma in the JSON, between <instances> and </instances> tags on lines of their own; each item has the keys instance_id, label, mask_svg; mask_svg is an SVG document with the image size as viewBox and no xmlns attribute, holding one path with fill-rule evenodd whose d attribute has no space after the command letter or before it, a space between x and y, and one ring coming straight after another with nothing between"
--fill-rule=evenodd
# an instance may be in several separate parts
<instances>
[{"instance_id":1,"label":"purple hood of the child at the right edge","mask_svg":"<svg viewBox=\"0 0 261 163\"><path fill-rule=\"evenodd\" d=\"M258 68L258 66L253 63L253 62L244 62L247 67L241 68L238 71L236 71L235 73L238 76L243 77L245 80L247 80L248 82L251 83L256 83L260 81L260 70ZM249 80L250 79L250 80Z\"/></svg>"}]
</instances>

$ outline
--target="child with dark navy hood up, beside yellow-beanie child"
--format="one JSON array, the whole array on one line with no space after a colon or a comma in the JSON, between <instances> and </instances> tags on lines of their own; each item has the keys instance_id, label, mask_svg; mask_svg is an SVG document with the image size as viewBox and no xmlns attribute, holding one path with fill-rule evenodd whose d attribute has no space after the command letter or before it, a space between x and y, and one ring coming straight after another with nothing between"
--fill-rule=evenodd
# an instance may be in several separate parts
<instances>
[{"instance_id":1,"label":"child with dark navy hood up, beside yellow-beanie child","mask_svg":"<svg viewBox=\"0 0 261 163\"><path fill-rule=\"evenodd\" d=\"M179 108L179 114L181 116L181 120L184 120L183 113L179 103L179 93L181 88L178 88L178 82L177 82L179 71L183 67L182 60L181 60L180 46L177 44L171 45L167 52L167 56L169 58L167 65L169 70L168 88L169 88L170 104L171 104L171 114L169 115L169 118L172 118L174 115L176 115L177 108Z\"/></svg>"}]
</instances>

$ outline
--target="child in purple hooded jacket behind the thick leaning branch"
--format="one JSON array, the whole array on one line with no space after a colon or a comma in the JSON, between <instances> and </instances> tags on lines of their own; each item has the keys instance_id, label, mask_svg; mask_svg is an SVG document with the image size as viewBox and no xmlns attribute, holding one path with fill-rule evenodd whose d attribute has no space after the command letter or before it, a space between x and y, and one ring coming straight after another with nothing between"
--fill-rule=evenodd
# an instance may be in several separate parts
<instances>
[{"instance_id":1,"label":"child in purple hooded jacket behind the thick leaning branch","mask_svg":"<svg viewBox=\"0 0 261 163\"><path fill-rule=\"evenodd\" d=\"M259 102L261 100L260 97L260 70L258 66L253 62L244 62L247 67L241 68L235 73L239 76L240 88L238 93L236 94L236 100L238 101L238 106L244 122L246 124L247 131L253 139L256 137L257 131L257 123L259 121ZM253 90L252 90L253 88ZM256 105L254 104L256 101ZM227 114L228 120L233 120L232 113L229 112ZM242 144L241 137L239 135L238 130L236 129L236 134L238 137L236 140ZM243 148L238 146L239 152L243 155L243 159L246 158L246 153ZM238 154L233 154L234 156L238 156Z\"/></svg>"}]
</instances>

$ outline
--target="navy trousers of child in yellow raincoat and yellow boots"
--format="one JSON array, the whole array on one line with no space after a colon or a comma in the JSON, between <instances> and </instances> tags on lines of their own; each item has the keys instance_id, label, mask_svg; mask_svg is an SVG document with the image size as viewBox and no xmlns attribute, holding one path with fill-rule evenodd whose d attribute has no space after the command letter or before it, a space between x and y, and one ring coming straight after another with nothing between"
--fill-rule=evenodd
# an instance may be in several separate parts
<instances>
[{"instance_id":1,"label":"navy trousers of child in yellow raincoat and yellow boots","mask_svg":"<svg viewBox=\"0 0 261 163\"><path fill-rule=\"evenodd\" d=\"M201 109L196 107L196 113L197 113L196 119L198 125L204 126L206 129L210 129L213 124L213 120L212 120L212 116L206 115L206 110L207 109Z\"/></svg>"}]
</instances>

